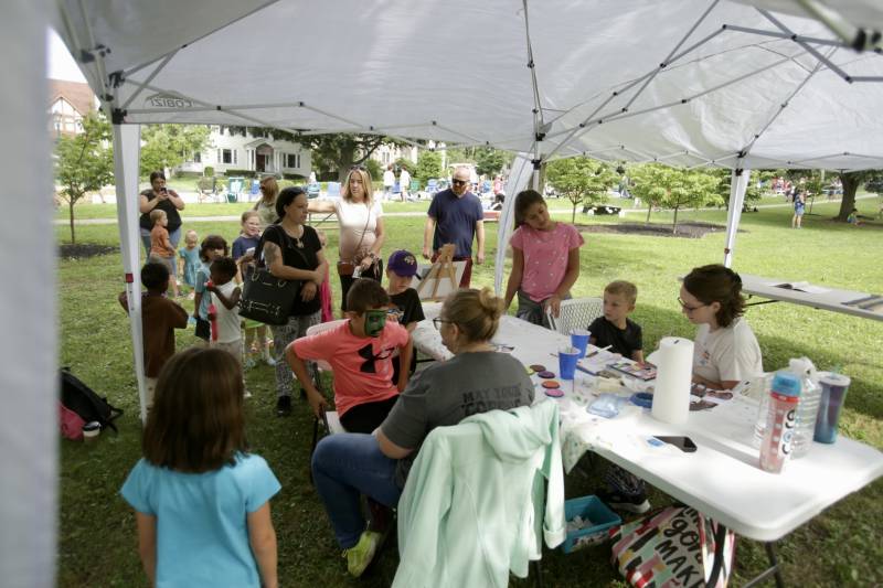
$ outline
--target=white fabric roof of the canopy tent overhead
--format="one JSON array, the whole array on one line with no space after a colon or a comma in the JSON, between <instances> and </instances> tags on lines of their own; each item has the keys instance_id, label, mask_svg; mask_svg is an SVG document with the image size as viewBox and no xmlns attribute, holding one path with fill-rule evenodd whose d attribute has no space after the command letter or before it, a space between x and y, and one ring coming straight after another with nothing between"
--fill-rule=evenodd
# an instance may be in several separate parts
<instances>
[{"instance_id":1,"label":"white fabric roof of the canopy tent overhead","mask_svg":"<svg viewBox=\"0 0 883 588\"><path fill-rule=\"evenodd\" d=\"M833 3L883 22L866 1ZM733 167L744 152L749 168L883 168L883 55L843 47L816 20L742 2L60 7L60 34L75 56L93 50L84 73L126 122L375 132L528 153L540 135L542 158Z\"/></svg>"}]
</instances>

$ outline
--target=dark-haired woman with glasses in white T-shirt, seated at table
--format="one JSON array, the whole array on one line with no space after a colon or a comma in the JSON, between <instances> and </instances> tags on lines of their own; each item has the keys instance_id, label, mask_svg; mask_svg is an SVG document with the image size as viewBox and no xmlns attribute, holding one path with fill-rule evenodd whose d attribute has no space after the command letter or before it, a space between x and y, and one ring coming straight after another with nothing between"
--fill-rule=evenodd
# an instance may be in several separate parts
<instances>
[{"instance_id":1,"label":"dark-haired woman with glasses in white T-shirt, seated at table","mask_svg":"<svg viewBox=\"0 0 883 588\"><path fill-rule=\"evenodd\" d=\"M757 338L742 316L745 298L738 274L722 265L694 268L683 279L678 302L690 322L699 325L693 382L732 389L764 372Z\"/></svg>"}]
</instances>

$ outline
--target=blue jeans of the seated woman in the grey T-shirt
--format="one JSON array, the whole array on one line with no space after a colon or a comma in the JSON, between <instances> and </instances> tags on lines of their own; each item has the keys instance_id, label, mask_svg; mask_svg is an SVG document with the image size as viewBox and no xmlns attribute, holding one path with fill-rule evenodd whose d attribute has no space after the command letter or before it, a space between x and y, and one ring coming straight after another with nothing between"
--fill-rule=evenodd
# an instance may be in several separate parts
<instances>
[{"instance_id":1,"label":"blue jeans of the seated woman in the grey T-shirt","mask_svg":"<svg viewBox=\"0 0 883 588\"><path fill-rule=\"evenodd\" d=\"M312 479L341 548L353 547L365 530L361 494L386 506L398 504L402 490L395 483L396 463L381 452L373 435L341 432L316 446Z\"/></svg>"}]
</instances>

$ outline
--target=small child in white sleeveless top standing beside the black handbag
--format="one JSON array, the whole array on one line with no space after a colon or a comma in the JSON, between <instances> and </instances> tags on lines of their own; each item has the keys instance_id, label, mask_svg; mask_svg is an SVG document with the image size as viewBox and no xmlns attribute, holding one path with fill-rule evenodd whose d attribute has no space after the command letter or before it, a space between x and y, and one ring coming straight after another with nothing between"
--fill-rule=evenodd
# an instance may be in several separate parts
<instances>
[{"instance_id":1,"label":"small child in white sleeveless top standing beside the black handbag","mask_svg":"<svg viewBox=\"0 0 883 588\"><path fill-rule=\"evenodd\" d=\"M236 276L236 261L232 257L219 257L210 268L211 280L205 290L211 292L215 314L209 313L209 321L217 325L217 339L211 340L209 346L222 349L236 359L242 367L242 329L240 329L240 287L233 281ZM245 397L252 394L246 389Z\"/></svg>"}]
</instances>

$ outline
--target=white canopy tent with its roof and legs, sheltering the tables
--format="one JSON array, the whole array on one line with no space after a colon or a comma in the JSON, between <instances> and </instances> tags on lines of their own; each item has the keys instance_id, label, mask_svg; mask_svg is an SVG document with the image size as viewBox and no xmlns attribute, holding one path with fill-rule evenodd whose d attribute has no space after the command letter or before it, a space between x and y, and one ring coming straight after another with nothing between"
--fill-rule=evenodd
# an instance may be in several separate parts
<instances>
[{"instance_id":1,"label":"white canopy tent with its roof and legs, sheltering the tables","mask_svg":"<svg viewBox=\"0 0 883 588\"><path fill-rule=\"evenodd\" d=\"M883 30L877 0L33 0L9 4L4 17L0 68L14 83L0 93L0 167L33 180L24 189L33 197L8 199L0 220L4 268L17 277L3 281L0 372L0 395L14 407L0 427L2 495L12 498L0 505L0 569L12 587L53 586L55 569L49 23L114 120L130 293L146 122L492 145L522 153L510 193L533 161L583 153L734 170L883 168L882 57L843 46L880 46L868 34ZM743 181L733 184L731 250L747 174L734 178ZM511 210L503 218L501 250ZM13 255L21 250L26 270ZM140 298L130 300L140 374Z\"/></svg>"}]
</instances>

